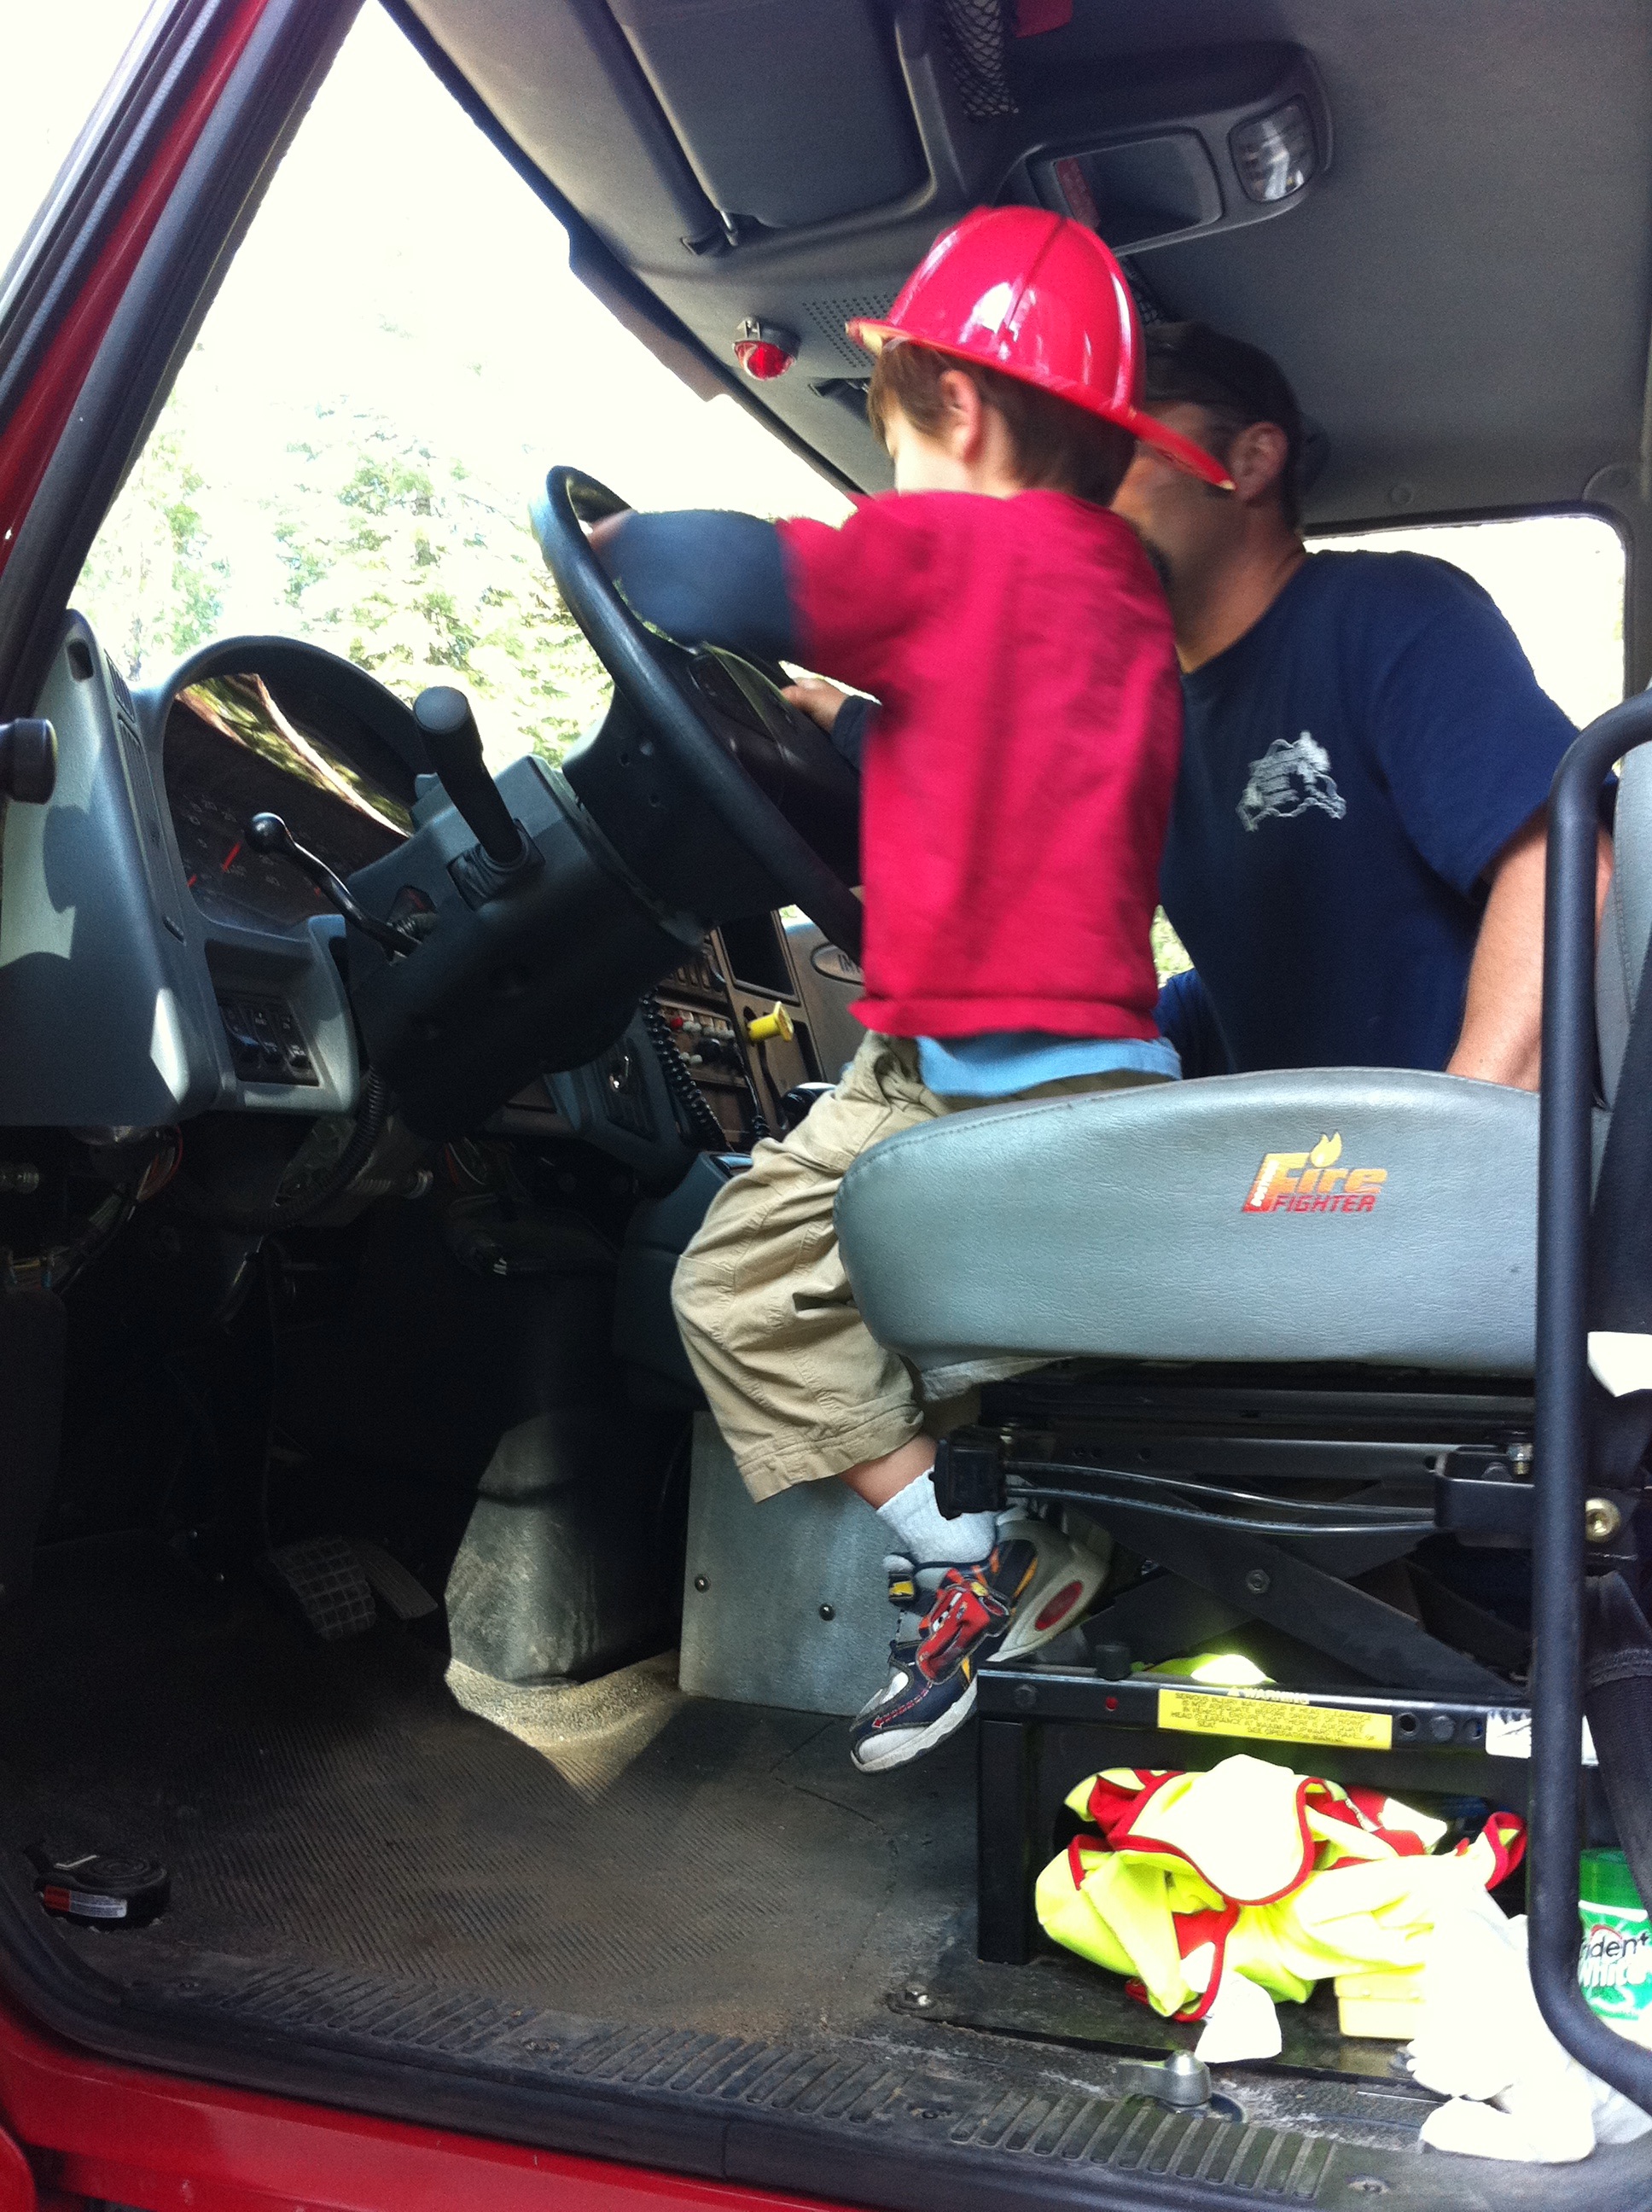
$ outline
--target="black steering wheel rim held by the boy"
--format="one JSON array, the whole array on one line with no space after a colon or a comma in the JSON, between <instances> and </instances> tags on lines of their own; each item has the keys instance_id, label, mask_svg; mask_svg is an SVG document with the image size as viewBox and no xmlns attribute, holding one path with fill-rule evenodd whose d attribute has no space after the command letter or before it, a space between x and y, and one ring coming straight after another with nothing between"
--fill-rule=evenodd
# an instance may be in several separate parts
<instances>
[{"instance_id":1,"label":"black steering wheel rim held by the boy","mask_svg":"<svg viewBox=\"0 0 1652 2212\"><path fill-rule=\"evenodd\" d=\"M650 726L657 743L694 785L730 836L785 896L851 960L860 958L860 900L747 774L675 675L661 648L632 615L590 549L582 524L628 513L626 502L579 469L553 469L533 502L533 526L568 613ZM778 695L776 695L778 697ZM781 703L792 721L796 710ZM814 739L820 732L809 723Z\"/></svg>"}]
</instances>

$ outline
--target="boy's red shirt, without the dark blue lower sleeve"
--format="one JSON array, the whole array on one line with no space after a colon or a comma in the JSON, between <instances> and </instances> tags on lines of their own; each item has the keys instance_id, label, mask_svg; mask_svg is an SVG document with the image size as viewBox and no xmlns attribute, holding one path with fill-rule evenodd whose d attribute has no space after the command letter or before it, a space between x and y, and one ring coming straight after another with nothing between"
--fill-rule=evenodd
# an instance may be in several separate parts
<instances>
[{"instance_id":1,"label":"boy's red shirt, without the dark blue lower sleeve","mask_svg":"<svg viewBox=\"0 0 1652 2212\"><path fill-rule=\"evenodd\" d=\"M1059 491L778 529L798 655L882 701L854 1011L905 1037L1154 1037L1181 684L1135 531Z\"/></svg>"}]
</instances>

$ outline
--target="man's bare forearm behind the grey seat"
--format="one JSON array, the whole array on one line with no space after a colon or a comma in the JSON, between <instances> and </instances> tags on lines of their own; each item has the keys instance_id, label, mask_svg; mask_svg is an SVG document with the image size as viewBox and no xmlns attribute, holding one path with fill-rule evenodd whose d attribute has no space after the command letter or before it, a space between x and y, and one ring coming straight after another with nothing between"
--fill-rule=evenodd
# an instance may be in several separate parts
<instances>
[{"instance_id":1,"label":"man's bare forearm behind the grey seat","mask_svg":"<svg viewBox=\"0 0 1652 2212\"><path fill-rule=\"evenodd\" d=\"M1446 1075L1535 1091L1544 1031L1544 869L1548 810L1517 830L1486 869L1491 891L1480 918L1468 1002ZM1612 883L1612 838L1599 832L1595 854L1595 925Z\"/></svg>"}]
</instances>

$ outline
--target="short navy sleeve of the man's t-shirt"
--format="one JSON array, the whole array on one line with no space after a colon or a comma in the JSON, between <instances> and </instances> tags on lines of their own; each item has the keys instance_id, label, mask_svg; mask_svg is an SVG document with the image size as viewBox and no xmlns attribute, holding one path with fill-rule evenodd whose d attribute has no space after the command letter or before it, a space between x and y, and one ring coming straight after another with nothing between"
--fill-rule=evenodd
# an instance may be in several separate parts
<instances>
[{"instance_id":1,"label":"short navy sleeve of the man's t-shirt","mask_svg":"<svg viewBox=\"0 0 1652 2212\"><path fill-rule=\"evenodd\" d=\"M1373 655L1371 745L1407 836L1466 896L1548 801L1577 730L1473 577L1422 555L1389 562L1402 604L1373 608L1389 650Z\"/></svg>"}]
</instances>

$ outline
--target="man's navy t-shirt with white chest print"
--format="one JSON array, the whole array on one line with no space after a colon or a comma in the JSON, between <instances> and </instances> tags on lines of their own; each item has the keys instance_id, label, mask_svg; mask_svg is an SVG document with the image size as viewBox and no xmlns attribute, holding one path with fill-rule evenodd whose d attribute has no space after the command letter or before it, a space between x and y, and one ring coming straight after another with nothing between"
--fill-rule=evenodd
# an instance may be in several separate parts
<instances>
[{"instance_id":1,"label":"man's navy t-shirt with white chest print","mask_svg":"<svg viewBox=\"0 0 1652 2212\"><path fill-rule=\"evenodd\" d=\"M1234 1068L1442 1068L1484 869L1577 734L1491 597L1316 553L1183 697L1161 889Z\"/></svg>"}]
</instances>

